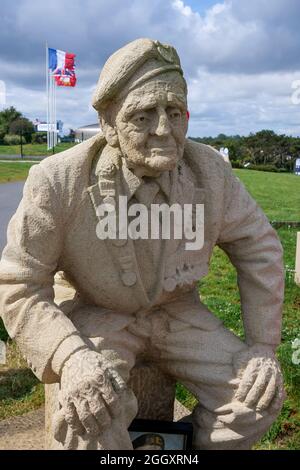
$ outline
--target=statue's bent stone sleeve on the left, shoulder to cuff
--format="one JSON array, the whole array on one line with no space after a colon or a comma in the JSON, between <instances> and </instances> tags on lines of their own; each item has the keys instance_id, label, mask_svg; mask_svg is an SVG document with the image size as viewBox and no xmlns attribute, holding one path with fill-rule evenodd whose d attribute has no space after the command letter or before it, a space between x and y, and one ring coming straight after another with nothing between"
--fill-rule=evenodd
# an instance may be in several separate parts
<instances>
[{"instance_id":1,"label":"statue's bent stone sleeve on the left, shoulder to cuff","mask_svg":"<svg viewBox=\"0 0 300 470\"><path fill-rule=\"evenodd\" d=\"M0 262L0 314L10 337L45 383L58 381L64 361L86 347L54 303L53 277L66 214L62 194L53 186L41 165L30 170Z\"/></svg>"}]
</instances>

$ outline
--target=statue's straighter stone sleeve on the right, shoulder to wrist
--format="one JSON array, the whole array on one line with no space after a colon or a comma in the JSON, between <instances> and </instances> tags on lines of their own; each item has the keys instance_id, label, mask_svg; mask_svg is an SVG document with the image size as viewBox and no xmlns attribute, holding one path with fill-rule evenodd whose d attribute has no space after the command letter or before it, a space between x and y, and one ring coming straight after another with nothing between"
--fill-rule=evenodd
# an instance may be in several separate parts
<instances>
[{"instance_id":1,"label":"statue's straighter stone sleeve on the right, shoulder to wrist","mask_svg":"<svg viewBox=\"0 0 300 470\"><path fill-rule=\"evenodd\" d=\"M276 347L284 295L282 247L229 165L225 174L224 216L217 244L237 270L247 343Z\"/></svg>"}]
</instances>

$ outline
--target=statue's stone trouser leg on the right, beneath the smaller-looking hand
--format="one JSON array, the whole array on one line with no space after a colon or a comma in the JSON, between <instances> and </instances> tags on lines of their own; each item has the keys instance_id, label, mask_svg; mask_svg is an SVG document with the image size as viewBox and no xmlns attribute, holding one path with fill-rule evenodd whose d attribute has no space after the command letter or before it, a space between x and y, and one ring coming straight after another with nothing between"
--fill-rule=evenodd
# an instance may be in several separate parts
<instances>
[{"instance_id":1,"label":"statue's stone trouser leg on the right, beneath the smaller-looking hand","mask_svg":"<svg viewBox=\"0 0 300 470\"><path fill-rule=\"evenodd\" d=\"M200 304L201 305L201 304ZM167 307L168 308L168 307ZM163 370L184 384L199 400L190 419L194 427L196 449L250 449L267 431L279 411L271 407L258 414L253 410L247 416L229 420L219 411L234 401L239 378L233 367L236 353L247 349L245 343L224 328L213 326L204 307L192 315L177 311L176 318L168 312L157 314L164 318L153 335L153 344L160 351L159 363ZM193 315L195 316L193 317ZM211 314L212 315L212 314ZM181 319L179 319L181 317ZM205 329L206 328L206 329Z\"/></svg>"}]
</instances>

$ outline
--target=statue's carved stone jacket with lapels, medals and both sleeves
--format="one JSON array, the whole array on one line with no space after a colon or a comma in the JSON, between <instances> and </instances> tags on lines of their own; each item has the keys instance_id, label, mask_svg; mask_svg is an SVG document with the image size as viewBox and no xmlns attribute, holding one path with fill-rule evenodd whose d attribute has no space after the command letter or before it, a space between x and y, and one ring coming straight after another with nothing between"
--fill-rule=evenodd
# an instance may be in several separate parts
<instances>
[{"instance_id":1,"label":"statue's carved stone jacket with lapels, medals and both sleeves","mask_svg":"<svg viewBox=\"0 0 300 470\"><path fill-rule=\"evenodd\" d=\"M237 270L247 343L278 344L282 248L231 166L211 147L186 140L172 173L174 202L204 204L204 245L188 251L184 240L162 240L160 261L151 266L135 249L137 241L97 236L99 205L136 190L133 174L124 162L109 161L106 147L99 134L34 165L8 226L0 262L0 314L35 374L45 383L58 381L52 357L66 338L78 334L55 303L55 273L64 273L87 312L101 307L124 318L151 309L155 314L159 306L195 291L208 273L215 245ZM144 273L152 276L151 289Z\"/></svg>"}]
</instances>

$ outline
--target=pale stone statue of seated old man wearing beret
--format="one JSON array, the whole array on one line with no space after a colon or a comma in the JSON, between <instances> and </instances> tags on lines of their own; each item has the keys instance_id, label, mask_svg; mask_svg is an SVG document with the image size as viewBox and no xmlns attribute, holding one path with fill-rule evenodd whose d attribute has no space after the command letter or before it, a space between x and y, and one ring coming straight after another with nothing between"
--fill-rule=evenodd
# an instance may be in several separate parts
<instances>
[{"instance_id":1,"label":"pale stone statue of seated old man wearing beret","mask_svg":"<svg viewBox=\"0 0 300 470\"><path fill-rule=\"evenodd\" d=\"M36 376L59 383L57 443L132 449L127 429L138 410L128 380L144 358L199 400L190 417L195 449L251 448L284 399L276 233L230 164L186 139L187 86L173 47L138 39L115 52L93 106L103 132L31 168L0 263L7 331ZM128 220L111 236L120 198ZM157 205L184 216L192 207L203 243L187 249L188 234L175 236L176 227L169 238L124 236L137 205L144 215ZM197 292L216 245L237 270L245 341ZM58 271L76 291L62 303Z\"/></svg>"}]
</instances>

